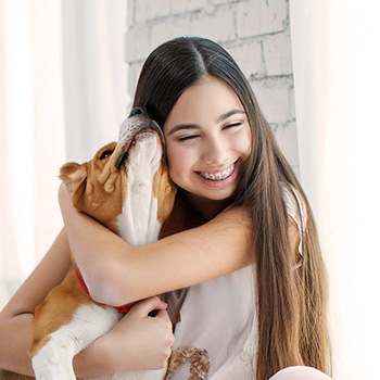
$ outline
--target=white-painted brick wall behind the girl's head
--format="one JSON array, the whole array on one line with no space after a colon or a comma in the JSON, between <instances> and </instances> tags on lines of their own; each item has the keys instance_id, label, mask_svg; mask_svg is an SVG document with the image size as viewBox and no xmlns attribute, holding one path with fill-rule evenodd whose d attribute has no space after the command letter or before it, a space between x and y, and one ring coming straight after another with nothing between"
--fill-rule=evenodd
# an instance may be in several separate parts
<instances>
[{"instance_id":1,"label":"white-painted brick wall behind the girl's head","mask_svg":"<svg viewBox=\"0 0 380 380\"><path fill-rule=\"evenodd\" d=\"M178 36L211 38L236 59L299 172L289 0L127 0L125 59L132 97L147 55Z\"/></svg>"}]
</instances>

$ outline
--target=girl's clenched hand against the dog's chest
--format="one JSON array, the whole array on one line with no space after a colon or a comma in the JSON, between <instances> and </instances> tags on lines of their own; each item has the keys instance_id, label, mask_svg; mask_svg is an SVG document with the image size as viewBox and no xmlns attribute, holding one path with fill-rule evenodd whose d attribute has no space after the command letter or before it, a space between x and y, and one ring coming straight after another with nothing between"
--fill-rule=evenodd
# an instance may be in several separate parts
<instances>
[{"instance_id":1,"label":"girl's clenched hand against the dog's chest","mask_svg":"<svg viewBox=\"0 0 380 380\"><path fill-rule=\"evenodd\" d=\"M166 366L174 343L166 308L167 304L157 296L140 301L107 334L100 338L114 371ZM156 311L155 316L149 316L153 311Z\"/></svg>"}]
</instances>

